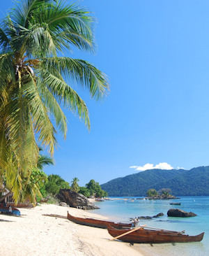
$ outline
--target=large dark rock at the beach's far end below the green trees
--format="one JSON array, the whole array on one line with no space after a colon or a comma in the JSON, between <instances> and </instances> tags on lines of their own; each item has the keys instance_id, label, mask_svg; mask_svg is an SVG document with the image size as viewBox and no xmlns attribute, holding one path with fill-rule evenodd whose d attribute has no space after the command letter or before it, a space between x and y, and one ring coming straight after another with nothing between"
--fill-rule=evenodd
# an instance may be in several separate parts
<instances>
[{"instance_id":1,"label":"large dark rock at the beach's far end below the green trees","mask_svg":"<svg viewBox=\"0 0 209 256\"><path fill-rule=\"evenodd\" d=\"M83 210L99 209L91 203L83 194L78 194L72 190L60 190L56 196L60 201L65 202L70 207L79 208Z\"/></svg>"}]
</instances>

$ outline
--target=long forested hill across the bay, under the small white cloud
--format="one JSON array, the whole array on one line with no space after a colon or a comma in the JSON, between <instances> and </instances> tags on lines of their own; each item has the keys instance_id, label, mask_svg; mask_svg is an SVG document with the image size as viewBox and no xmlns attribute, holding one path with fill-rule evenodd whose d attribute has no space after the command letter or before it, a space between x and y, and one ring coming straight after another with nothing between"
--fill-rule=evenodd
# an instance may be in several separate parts
<instances>
[{"instance_id":1,"label":"long forested hill across the bay, under the small white cloud","mask_svg":"<svg viewBox=\"0 0 209 256\"><path fill-rule=\"evenodd\" d=\"M101 185L109 197L146 196L150 188L170 188L178 197L209 196L209 166L191 170L152 169L116 178Z\"/></svg>"}]
</instances>

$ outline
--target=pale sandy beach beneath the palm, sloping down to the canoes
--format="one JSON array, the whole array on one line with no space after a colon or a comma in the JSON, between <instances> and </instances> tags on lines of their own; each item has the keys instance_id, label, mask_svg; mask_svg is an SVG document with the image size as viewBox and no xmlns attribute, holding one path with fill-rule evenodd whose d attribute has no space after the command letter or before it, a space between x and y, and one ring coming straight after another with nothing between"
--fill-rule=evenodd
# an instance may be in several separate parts
<instances>
[{"instance_id":1,"label":"pale sandy beach beneath the palm, sloping down to the canoes","mask_svg":"<svg viewBox=\"0 0 209 256\"><path fill-rule=\"evenodd\" d=\"M0 215L3 256L147 256L128 243L109 241L106 229L77 225L70 220L43 214L104 218L76 208L41 204L35 208L20 208L21 216ZM137 249L137 250L136 250Z\"/></svg>"}]
</instances>

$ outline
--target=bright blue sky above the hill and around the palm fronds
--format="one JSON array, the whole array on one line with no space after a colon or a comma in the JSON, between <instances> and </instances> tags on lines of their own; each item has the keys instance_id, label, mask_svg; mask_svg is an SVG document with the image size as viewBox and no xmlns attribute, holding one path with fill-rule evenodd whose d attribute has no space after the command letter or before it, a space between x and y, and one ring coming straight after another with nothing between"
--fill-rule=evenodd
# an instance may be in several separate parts
<instances>
[{"instance_id":1,"label":"bright blue sky above the hill and around the palm fronds","mask_svg":"<svg viewBox=\"0 0 209 256\"><path fill-rule=\"evenodd\" d=\"M85 185L146 167L209 165L209 1L79 5L96 18L98 47L95 55L75 50L68 56L95 64L107 74L111 91L97 102L76 88L90 111L91 131L65 111L67 139L58 136L56 165L45 172ZM12 0L1 0L0 16L12 6Z\"/></svg>"}]
</instances>

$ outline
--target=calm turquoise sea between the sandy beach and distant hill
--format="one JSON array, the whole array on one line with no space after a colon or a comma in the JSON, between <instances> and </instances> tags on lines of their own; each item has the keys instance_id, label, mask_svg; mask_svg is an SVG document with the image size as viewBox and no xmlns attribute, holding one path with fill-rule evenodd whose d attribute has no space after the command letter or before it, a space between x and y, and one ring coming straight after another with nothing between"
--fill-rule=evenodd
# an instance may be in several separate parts
<instances>
[{"instance_id":1,"label":"calm turquoise sea between the sandy beach and distant hill","mask_svg":"<svg viewBox=\"0 0 209 256\"><path fill-rule=\"evenodd\" d=\"M180 206L170 203L180 202ZM158 213L164 215L151 220L140 220L139 225L183 231L191 236L205 232L201 242L134 244L134 248L144 255L150 256L208 256L209 255L209 197L180 197L170 200L148 200L141 197L110 197L108 201L98 201L98 210L91 211L107 216L114 221L127 221L139 216L153 217ZM189 218L173 218L167 216L170 208L196 213Z\"/></svg>"}]
</instances>

